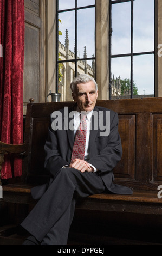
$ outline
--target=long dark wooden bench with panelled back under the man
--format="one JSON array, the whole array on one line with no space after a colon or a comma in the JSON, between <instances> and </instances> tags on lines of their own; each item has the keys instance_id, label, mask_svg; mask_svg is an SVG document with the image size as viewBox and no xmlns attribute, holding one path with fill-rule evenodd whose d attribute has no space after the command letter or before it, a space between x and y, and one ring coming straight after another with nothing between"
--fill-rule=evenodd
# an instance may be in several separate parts
<instances>
[{"instance_id":1,"label":"long dark wooden bench with panelled back under the man","mask_svg":"<svg viewBox=\"0 0 162 256\"><path fill-rule=\"evenodd\" d=\"M43 168L43 148L47 138L49 115L64 106L72 106L73 103L34 103L31 99L27 106L24 144L18 146L0 142L0 163L6 153L23 154L21 182L18 180L13 183L11 179L8 184L3 185L4 202L30 205L28 211L33 207L35 201L31 198L30 188L48 178ZM87 236L92 230L89 243L116 244L116 236L112 233L107 234L105 227L114 230L114 225L118 225L118 242L120 240L121 244L125 241L131 245L159 244L160 238L158 240L157 234L162 227L162 198L158 198L158 186L162 184L162 98L102 100L97 101L96 105L113 109L119 115L123 155L114 168L114 182L131 187L133 194L96 194L78 202L69 237L73 241L86 243ZM18 222L22 221L21 217ZM124 223L125 228L122 228ZM127 232L124 230L128 228L129 237L126 237ZM132 233L134 229L136 231ZM141 237L144 230L145 234ZM151 233L146 239L148 230ZM83 233L84 236L80 236Z\"/></svg>"}]
</instances>

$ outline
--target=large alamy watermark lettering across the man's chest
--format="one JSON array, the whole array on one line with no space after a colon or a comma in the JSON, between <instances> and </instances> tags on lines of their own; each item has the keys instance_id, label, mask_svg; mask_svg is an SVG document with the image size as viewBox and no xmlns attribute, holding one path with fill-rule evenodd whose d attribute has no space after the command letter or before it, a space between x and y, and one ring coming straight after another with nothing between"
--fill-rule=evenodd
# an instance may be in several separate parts
<instances>
[{"instance_id":1,"label":"large alamy watermark lettering across the man's chest","mask_svg":"<svg viewBox=\"0 0 162 256\"><path fill-rule=\"evenodd\" d=\"M64 107L63 116L60 111L55 111L52 113L51 117L54 119L51 127L54 131L56 130L71 130L74 131L74 116L76 111L68 113L68 107ZM81 120L85 111L81 112ZM69 118L72 120L69 121ZM93 111L92 121L90 125L90 130L100 130L100 136L108 136L110 133L110 112L109 111Z\"/></svg>"}]
</instances>

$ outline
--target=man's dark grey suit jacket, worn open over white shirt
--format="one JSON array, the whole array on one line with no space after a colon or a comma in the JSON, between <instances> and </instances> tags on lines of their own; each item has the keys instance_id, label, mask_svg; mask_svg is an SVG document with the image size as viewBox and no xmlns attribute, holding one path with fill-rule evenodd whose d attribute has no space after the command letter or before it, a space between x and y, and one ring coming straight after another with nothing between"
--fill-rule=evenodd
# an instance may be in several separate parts
<instances>
[{"instance_id":1,"label":"man's dark grey suit jacket, worn open over white shirt","mask_svg":"<svg viewBox=\"0 0 162 256\"><path fill-rule=\"evenodd\" d=\"M58 116L56 112L54 112L55 117L51 114L51 124L53 121L56 121L56 125L58 126L58 120L60 124L62 124L62 129L59 127L59 129L55 131L51 124L49 125L48 138L44 146L46 152L44 167L52 177L55 177L60 168L70 163L74 143L74 131L69 129L69 123L73 120L73 114L69 117L69 113L72 113L75 109L76 104L72 108L69 108L68 112L64 111L64 109L60 109L60 111L57 112ZM116 194L132 194L130 188L113 184L113 168L120 161L122 156L121 139L118 133L118 114L108 108L99 106L95 106L94 111L96 111L98 116L98 129L92 125L92 130L90 130L89 159L87 162L98 169L96 174L101 175L109 192ZM106 123L107 111L110 113L110 124ZM93 121L92 124L94 124ZM109 135L101 136L101 132L103 135L103 128L100 124L102 124L102 126L110 125ZM51 180L53 180L53 178L51 178ZM34 188L32 191L33 197L36 199L40 198L45 189L45 185Z\"/></svg>"}]
</instances>

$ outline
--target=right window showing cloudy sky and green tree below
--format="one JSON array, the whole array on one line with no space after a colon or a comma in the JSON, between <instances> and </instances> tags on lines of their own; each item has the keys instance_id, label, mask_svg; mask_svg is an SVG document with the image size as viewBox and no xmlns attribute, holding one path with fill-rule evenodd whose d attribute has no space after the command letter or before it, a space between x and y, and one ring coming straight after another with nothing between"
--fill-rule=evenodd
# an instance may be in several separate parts
<instances>
[{"instance_id":1,"label":"right window showing cloudy sky and green tree below","mask_svg":"<svg viewBox=\"0 0 162 256\"><path fill-rule=\"evenodd\" d=\"M109 3L109 97L153 97L154 0Z\"/></svg>"}]
</instances>

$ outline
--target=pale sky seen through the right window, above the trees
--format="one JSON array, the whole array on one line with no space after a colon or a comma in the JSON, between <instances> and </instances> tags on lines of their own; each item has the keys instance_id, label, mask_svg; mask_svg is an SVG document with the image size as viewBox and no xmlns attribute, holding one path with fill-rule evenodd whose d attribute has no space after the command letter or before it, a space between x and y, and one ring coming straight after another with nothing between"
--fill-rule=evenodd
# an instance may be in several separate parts
<instances>
[{"instance_id":1,"label":"pale sky seen through the right window, above the trees","mask_svg":"<svg viewBox=\"0 0 162 256\"><path fill-rule=\"evenodd\" d=\"M154 1L135 0L133 20L133 52L154 51ZM112 54L131 51L131 3L112 5ZM114 77L130 78L130 57L112 59ZM138 94L154 93L154 57L134 56L133 80Z\"/></svg>"}]
</instances>

